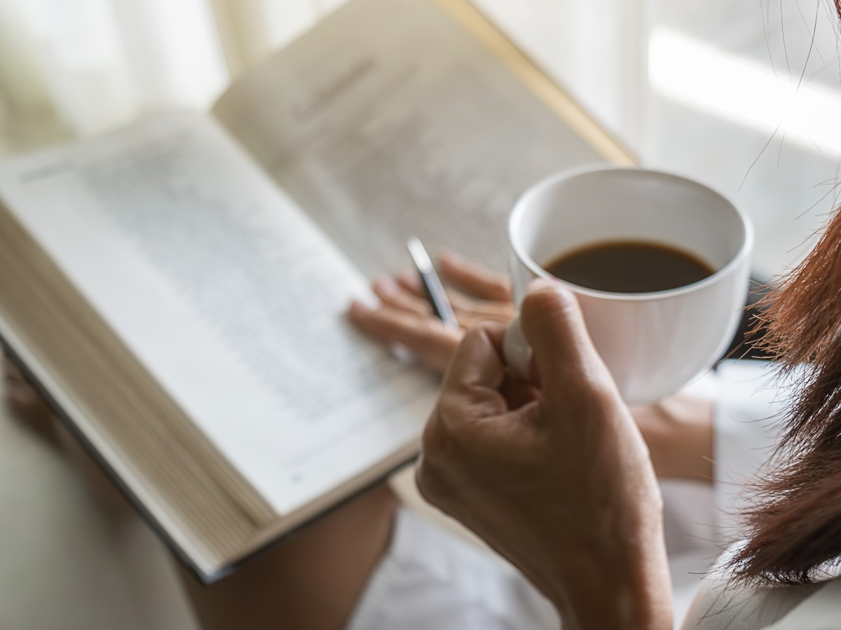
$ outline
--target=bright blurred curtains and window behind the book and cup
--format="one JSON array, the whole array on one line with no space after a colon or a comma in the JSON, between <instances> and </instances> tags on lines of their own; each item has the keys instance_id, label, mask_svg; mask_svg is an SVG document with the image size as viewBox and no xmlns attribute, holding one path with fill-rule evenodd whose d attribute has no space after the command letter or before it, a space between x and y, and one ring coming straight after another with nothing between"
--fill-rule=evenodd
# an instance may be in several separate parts
<instances>
[{"instance_id":1,"label":"bright blurred curtains and window behind the book and cup","mask_svg":"<svg viewBox=\"0 0 841 630\"><path fill-rule=\"evenodd\" d=\"M209 108L342 0L0 0L0 155ZM770 277L838 201L829 0L475 0L643 165L717 187ZM383 27L387 26L383 24Z\"/></svg>"}]
</instances>

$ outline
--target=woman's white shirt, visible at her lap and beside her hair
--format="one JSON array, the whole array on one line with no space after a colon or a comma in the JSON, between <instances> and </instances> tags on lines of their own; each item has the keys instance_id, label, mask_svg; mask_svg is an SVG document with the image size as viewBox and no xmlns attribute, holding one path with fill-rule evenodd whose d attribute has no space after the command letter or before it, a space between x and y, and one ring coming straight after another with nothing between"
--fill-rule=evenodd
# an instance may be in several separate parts
<instances>
[{"instance_id":1,"label":"woman's white shirt, visible at her lap and beside her hair","mask_svg":"<svg viewBox=\"0 0 841 630\"><path fill-rule=\"evenodd\" d=\"M775 444L775 417L785 400L769 380L763 362L728 361L690 387L716 402L716 479L711 485L662 486L675 627L841 628L841 580L751 589L734 587L713 570L721 550L738 539L743 482L754 477ZM347 630L542 630L559 625L553 606L509 564L404 510Z\"/></svg>"}]
</instances>

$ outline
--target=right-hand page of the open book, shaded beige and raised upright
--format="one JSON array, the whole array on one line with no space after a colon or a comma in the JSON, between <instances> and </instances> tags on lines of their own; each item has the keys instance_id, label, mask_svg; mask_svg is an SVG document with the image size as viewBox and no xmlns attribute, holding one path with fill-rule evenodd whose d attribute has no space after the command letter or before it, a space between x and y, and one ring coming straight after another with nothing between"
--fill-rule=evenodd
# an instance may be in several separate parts
<instances>
[{"instance_id":1,"label":"right-hand page of the open book, shaded beige and raised upright","mask_svg":"<svg viewBox=\"0 0 841 630\"><path fill-rule=\"evenodd\" d=\"M352 0L214 115L368 275L410 236L505 270L516 197L601 161L434 0Z\"/></svg>"}]
</instances>

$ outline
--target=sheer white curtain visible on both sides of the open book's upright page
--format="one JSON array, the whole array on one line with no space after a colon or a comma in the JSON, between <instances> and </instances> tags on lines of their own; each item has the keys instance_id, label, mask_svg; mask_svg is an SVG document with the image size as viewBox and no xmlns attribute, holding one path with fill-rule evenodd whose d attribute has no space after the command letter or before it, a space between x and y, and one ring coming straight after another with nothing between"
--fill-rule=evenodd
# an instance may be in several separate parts
<instances>
[{"instance_id":1,"label":"sheer white curtain visible on both sides of the open book's upright page","mask_svg":"<svg viewBox=\"0 0 841 630\"><path fill-rule=\"evenodd\" d=\"M0 108L91 134L206 107L344 0L0 0ZM628 144L643 135L648 0L477 0ZM606 18L606 16L610 16Z\"/></svg>"}]
</instances>

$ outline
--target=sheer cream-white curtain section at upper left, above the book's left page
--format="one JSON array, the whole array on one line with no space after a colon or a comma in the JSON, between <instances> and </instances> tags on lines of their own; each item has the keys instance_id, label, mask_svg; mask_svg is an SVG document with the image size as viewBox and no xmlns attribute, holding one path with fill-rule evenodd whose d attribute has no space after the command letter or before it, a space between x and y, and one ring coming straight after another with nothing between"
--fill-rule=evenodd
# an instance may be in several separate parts
<instances>
[{"instance_id":1,"label":"sheer cream-white curtain section at upper left, above the book's left page","mask_svg":"<svg viewBox=\"0 0 841 630\"><path fill-rule=\"evenodd\" d=\"M0 108L91 134L151 108L205 108L327 0L0 0Z\"/></svg>"}]
</instances>

